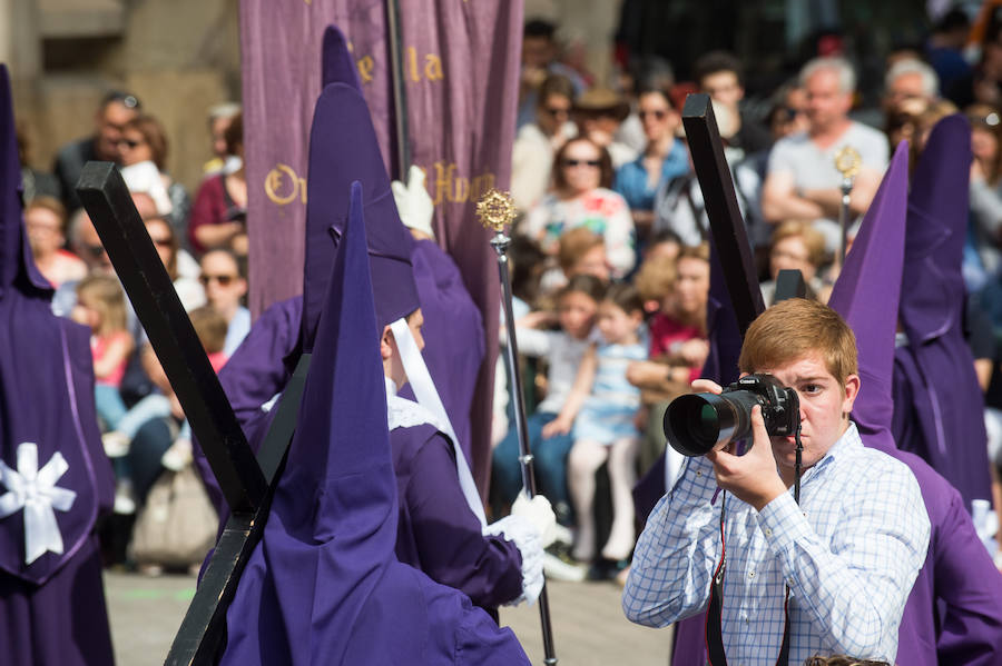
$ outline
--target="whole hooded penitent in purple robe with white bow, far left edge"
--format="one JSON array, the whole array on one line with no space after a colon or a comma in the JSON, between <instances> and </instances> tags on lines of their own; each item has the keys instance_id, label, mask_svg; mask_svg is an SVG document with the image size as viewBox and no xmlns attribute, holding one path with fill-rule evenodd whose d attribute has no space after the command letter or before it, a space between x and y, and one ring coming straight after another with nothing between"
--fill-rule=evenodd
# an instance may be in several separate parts
<instances>
[{"instance_id":1,"label":"whole hooded penitent in purple robe with white bow, far left edge","mask_svg":"<svg viewBox=\"0 0 1002 666\"><path fill-rule=\"evenodd\" d=\"M0 663L104 666L114 654L94 526L115 481L90 331L52 315L31 258L3 66L0 115Z\"/></svg>"}]
</instances>

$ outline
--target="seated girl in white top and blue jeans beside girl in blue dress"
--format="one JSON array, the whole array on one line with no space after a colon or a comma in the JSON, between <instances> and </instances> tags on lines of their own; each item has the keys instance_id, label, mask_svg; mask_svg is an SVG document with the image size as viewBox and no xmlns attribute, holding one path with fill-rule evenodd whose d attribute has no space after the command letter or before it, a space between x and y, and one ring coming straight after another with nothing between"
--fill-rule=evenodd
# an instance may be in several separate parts
<instances>
[{"instance_id":1,"label":"seated girl in white top and blue jeans beside girl in blue dress","mask_svg":"<svg viewBox=\"0 0 1002 666\"><path fill-rule=\"evenodd\" d=\"M553 505L557 519L570 524L570 501L567 493L567 453L573 439L570 426L550 428L570 395L578 375L581 357L588 349L595 312L603 291L602 281L590 275L572 277L557 296L557 320L560 330L537 330L550 312L531 312L518 321L519 352L543 357L549 361L547 397L528 420L529 446L536 456L533 467L539 490ZM493 453L493 483L504 504L514 501L522 488L519 466L519 440L515 426Z\"/></svg>"}]
</instances>

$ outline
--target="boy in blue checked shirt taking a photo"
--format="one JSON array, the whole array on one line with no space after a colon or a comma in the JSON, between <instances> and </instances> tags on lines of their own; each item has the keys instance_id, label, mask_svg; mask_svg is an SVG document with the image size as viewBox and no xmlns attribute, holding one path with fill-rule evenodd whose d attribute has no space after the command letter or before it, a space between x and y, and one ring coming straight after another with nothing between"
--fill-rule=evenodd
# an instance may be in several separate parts
<instances>
[{"instance_id":1,"label":"boy in blue checked shirt taking a photo","mask_svg":"<svg viewBox=\"0 0 1002 666\"><path fill-rule=\"evenodd\" d=\"M852 330L827 306L784 301L749 327L739 366L797 394L799 506L796 437L770 437L756 406L747 453L730 443L688 458L658 503L623 592L627 617L667 626L708 607L715 666L832 653L893 662L930 525L911 471L864 448L848 419L859 391Z\"/></svg>"}]
</instances>

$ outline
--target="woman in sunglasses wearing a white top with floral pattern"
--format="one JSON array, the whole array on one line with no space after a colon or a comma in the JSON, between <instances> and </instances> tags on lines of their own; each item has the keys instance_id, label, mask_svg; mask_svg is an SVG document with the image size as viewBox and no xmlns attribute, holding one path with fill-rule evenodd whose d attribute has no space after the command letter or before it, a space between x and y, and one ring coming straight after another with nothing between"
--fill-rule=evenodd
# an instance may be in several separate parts
<instances>
[{"instance_id":1,"label":"woman in sunglasses wearing a white top with floral pattern","mask_svg":"<svg viewBox=\"0 0 1002 666\"><path fill-rule=\"evenodd\" d=\"M605 239L612 277L626 276L637 261L633 218L626 200L608 189L612 183L609 152L579 137L557 151L554 163L553 190L529 211L521 232L556 257L560 236L586 227Z\"/></svg>"}]
</instances>

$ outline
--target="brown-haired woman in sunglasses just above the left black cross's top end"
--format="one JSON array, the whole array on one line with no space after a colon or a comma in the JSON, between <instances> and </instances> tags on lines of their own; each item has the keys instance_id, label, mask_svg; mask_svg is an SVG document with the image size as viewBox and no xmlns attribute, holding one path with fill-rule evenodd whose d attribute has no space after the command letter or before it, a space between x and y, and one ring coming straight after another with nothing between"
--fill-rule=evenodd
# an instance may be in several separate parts
<instances>
[{"instance_id":1,"label":"brown-haired woman in sunglasses just above the left black cross's top end","mask_svg":"<svg viewBox=\"0 0 1002 666\"><path fill-rule=\"evenodd\" d=\"M118 151L121 177L131 192L145 192L166 219L175 236L183 235L188 223L191 199L184 186L167 173L167 133L153 116L137 116L125 123Z\"/></svg>"}]
</instances>

